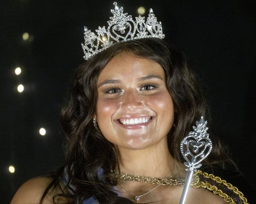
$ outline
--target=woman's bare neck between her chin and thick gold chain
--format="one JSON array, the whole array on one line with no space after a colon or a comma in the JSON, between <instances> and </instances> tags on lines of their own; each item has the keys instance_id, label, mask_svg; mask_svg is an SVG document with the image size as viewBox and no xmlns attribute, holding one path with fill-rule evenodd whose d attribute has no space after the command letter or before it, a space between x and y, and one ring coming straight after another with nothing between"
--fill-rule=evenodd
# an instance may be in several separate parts
<instances>
[{"instance_id":1,"label":"woman's bare neck between her chin and thick gold chain","mask_svg":"<svg viewBox=\"0 0 256 204\"><path fill-rule=\"evenodd\" d=\"M168 178L174 170L175 159L167 146L167 137L144 149L117 147L120 171L136 176ZM118 167L116 167L118 171Z\"/></svg>"}]
</instances>

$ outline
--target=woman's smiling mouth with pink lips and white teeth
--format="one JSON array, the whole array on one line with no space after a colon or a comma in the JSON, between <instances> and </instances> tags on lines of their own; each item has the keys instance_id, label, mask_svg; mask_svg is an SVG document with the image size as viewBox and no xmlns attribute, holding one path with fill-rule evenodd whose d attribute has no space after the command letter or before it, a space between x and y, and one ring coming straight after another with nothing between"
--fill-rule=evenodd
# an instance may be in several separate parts
<instances>
[{"instance_id":1,"label":"woman's smiling mouth with pink lips and white teeth","mask_svg":"<svg viewBox=\"0 0 256 204\"><path fill-rule=\"evenodd\" d=\"M144 126L149 125L154 118L155 117L153 117L153 116L131 118L131 119L121 118L121 119L116 120L116 123L123 128L140 129Z\"/></svg>"}]
</instances>

